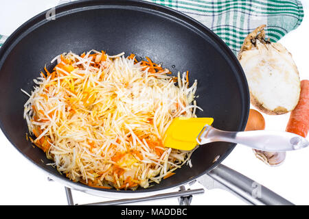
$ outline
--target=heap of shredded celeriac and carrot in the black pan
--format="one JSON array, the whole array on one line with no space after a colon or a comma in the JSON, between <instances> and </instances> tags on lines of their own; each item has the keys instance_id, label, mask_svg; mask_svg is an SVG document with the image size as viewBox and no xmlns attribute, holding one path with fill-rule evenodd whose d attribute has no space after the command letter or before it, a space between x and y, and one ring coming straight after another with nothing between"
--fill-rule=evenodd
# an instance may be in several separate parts
<instances>
[{"instance_id":1,"label":"heap of shredded celeriac and carrot in the black pan","mask_svg":"<svg viewBox=\"0 0 309 219\"><path fill-rule=\"evenodd\" d=\"M197 82L135 55L63 53L34 79L24 118L36 146L72 181L98 188L148 188L190 161L165 148L173 118L196 117ZM191 162L189 162L192 166Z\"/></svg>"}]
</instances>

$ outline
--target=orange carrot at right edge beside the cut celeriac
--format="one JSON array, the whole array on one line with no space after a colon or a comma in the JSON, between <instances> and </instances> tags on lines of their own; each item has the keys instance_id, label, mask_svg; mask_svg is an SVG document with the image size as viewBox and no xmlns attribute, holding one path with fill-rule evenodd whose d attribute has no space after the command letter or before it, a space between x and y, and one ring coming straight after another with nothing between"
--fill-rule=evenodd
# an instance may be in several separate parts
<instances>
[{"instance_id":1,"label":"orange carrot at right edge beside the cut celeriac","mask_svg":"<svg viewBox=\"0 0 309 219\"><path fill-rule=\"evenodd\" d=\"M286 131L306 138L309 129L309 80L301 81L301 92L295 109L290 113Z\"/></svg>"}]
</instances>

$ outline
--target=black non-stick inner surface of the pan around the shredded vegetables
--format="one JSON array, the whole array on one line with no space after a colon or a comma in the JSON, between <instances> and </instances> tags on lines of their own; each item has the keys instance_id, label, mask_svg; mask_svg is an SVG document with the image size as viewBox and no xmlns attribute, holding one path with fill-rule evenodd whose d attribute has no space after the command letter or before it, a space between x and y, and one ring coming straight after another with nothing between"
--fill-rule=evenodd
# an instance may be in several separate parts
<instances>
[{"instance_id":1,"label":"black non-stick inner surface of the pan around the shredded vegetables","mask_svg":"<svg viewBox=\"0 0 309 219\"><path fill-rule=\"evenodd\" d=\"M198 81L198 116L213 117L214 127L244 129L249 113L247 81L235 55L209 29L174 10L139 1L78 1L56 9L56 19L39 14L17 29L0 51L0 125L5 136L25 157L60 179L45 153L27 142L23 104L32 90L32 79L58 54L96 49L110 55L124 51L148 56L174 74L189 70ZM214 168L234 144L216 142L201 146L176 175L145 192L172 188ZM214 158L220 155L218 161ZM12 161L16 162L16 161ZM18 161L17 161L18 162ZM87 188L86 185L82 185ZM95 189L93 190L100 190ZM116 191L115 191L116 192ZM122 191L132 192L132 191Z\"/></svg>"}]
</instances>

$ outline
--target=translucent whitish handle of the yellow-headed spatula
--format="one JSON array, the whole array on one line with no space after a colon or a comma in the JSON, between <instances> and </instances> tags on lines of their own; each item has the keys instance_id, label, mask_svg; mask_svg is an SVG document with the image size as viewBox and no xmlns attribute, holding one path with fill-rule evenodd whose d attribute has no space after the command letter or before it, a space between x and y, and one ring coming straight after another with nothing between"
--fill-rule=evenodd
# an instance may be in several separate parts
<instances>
[{"instance_id":1,"label":"translucent whitish handle of the yellow-headed spatula","mask_svg":"<svg viewBox=\"0 0 309 219\"><path fill-rule=\"evenodd\" d=\"M205 125L196 141L198 144L232 142L261 151L294 151L309 144L306 138L286 131L222 131L209 125Z\"/></svg>"}]
</instances>

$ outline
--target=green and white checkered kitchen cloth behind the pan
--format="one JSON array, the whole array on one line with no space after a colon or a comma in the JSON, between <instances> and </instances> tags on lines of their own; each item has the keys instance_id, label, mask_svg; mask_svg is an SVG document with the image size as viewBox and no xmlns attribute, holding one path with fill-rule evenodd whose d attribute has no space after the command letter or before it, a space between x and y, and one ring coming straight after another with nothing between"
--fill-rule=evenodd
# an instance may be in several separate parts
<instances>
[{"instance_id":1,"label":"green and white checkered kitchen cloth behind the pan","mask_svg":"<svg viewBox=\"0 0 309 219\"><path fill-rule=\"evenodd\" d=\"M75 0L60 0L60 3ZM244 38L266 24L266 36L277 42L304 18L298 0L146 0L183 12L214 31L237 55ZM304 0L308 1L308 0ZM6 37L0 35L0 47Z\"/></svg>"}]
</instances>

